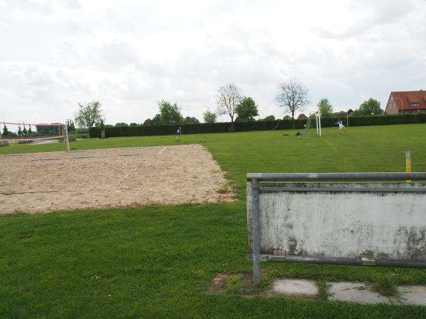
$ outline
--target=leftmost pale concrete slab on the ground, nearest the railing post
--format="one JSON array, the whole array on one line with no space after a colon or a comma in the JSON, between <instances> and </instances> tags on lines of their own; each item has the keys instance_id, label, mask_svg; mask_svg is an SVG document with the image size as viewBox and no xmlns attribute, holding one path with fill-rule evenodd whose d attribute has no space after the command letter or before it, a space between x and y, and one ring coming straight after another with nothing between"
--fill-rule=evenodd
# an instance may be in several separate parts
<instances>
[{"instance_id":1,"label":"leftmost pale concrete slab on the ground, nearest the railing post","mask_svg":"<svg viewBox=\"0 0 426 319\"><path fill-rule=\"evenodd\" d=\"M272 288L273 294L297 297L316 297L317 286L314 281L305 279L281 279L275 280Z\"/></svg>"}]
</instances>

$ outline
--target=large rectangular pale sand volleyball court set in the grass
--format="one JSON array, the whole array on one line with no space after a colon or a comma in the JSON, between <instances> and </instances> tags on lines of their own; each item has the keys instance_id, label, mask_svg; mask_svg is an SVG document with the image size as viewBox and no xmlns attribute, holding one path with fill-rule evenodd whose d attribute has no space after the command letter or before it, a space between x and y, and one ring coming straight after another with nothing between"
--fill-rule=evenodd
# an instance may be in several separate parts
<instances>
[{"instance_id":1,"label":"large rectangular pale sand volleyball court set in the grass","mask_svg":"<svg viewBox=\"0 0 426 319\"><path fill-rule=\"evenodd\" d=\"M232 201L201 145L0 156L0 214Z\"/></svg>"}]
</instances>

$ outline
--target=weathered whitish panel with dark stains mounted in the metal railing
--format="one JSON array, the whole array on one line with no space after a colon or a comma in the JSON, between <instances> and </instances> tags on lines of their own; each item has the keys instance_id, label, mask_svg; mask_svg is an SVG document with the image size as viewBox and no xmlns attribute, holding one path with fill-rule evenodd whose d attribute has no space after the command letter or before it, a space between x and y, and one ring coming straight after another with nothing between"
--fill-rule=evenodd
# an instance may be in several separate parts
<instances>
[{"instance_id":1,"label":"weathered whitish panel with dark stains mounted in the metal railing","mask_svg":"<svg viewBox=\"0 0 426 319\"><path fill-rule=\"evenodd\" d=\"M426 260L424 183L273 183L342 191L265 191L259 194L261 254ZM353 191L372 187L376 191ZM395 191L379 191L395 188ZM251 188L247 184L249 252Z\"/></svg>"}]
</instances>

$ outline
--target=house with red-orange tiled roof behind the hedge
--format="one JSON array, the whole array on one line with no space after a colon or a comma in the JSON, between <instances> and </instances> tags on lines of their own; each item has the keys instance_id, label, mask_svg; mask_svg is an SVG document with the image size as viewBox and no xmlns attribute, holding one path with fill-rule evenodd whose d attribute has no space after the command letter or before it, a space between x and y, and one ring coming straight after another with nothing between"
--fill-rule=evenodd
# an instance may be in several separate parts
<instances>
[{"instance_id":1,"label":"house with red-orange tiled roof behind the hedge","mask_svg":"<svg viewBox=\"0 0 426 319\"><path fill-rule=\"evenodd\" d=\"M426 91L391 92L385 114L426 113Z\"/></svg>"}]
</instances>

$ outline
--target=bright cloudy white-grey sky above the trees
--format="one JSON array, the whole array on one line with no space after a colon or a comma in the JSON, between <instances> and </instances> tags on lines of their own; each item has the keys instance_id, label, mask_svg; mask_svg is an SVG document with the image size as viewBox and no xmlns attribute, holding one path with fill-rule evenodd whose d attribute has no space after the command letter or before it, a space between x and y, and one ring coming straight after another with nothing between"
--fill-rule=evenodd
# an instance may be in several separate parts
<instances>
[{"instance_id":1,"label":"bright cloudy white-grey sky above the trees","mask_svg":"<svg viewBox=\"0 0 426 319\"><path fill-rule=\"evenodd\" d=\"M100 101L107 124L143 123L162 99L202 121L225 84L283 117L290 78L305 113L323 97L385 108L426 89L425 16L426 0L0 0L0 121L64 123Z\"/></svg>"}]
</instances>

